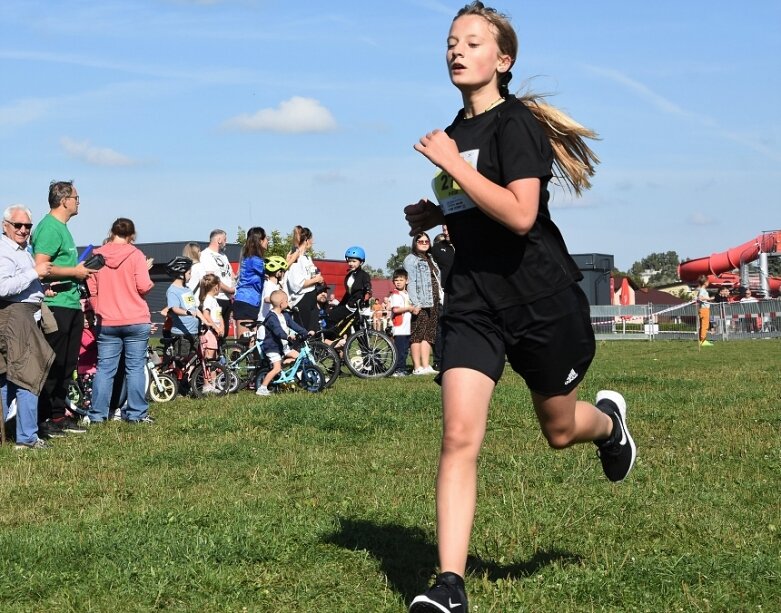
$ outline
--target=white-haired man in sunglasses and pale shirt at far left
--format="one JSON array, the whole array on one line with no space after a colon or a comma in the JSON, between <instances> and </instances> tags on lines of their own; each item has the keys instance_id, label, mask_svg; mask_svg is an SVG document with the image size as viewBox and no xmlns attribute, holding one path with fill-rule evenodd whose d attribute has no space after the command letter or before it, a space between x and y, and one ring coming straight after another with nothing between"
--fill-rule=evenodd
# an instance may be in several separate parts
<instances>
[{"instance_id":1,"label":"white-haired man in sunglasses and pale shirt at far left","mask_svg":"<svg viewBox=\"0 0 781 613\"><path fill-rule=\"evenodd\" d=\"M21 204L3 213L0 235L0 395L3 419L16 401L16 449L43 449L38 438L38 395L54 361L43 336L41 319L43 285L51 263L35 264L27 251L30 209Z\"/></svg>"}]
</instances>

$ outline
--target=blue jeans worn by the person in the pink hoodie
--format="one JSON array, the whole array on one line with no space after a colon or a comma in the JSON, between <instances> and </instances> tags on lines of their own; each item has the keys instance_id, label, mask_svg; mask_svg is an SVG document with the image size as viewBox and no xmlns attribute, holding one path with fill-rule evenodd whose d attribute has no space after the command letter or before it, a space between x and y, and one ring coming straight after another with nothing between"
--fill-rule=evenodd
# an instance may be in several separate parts
<instances>
[{"instance_id":1,"label":"blue jeans worn by the person in the pink hoodie","mask_svg":"<svg viewBox=\"0 0 781 613\"><path fill-rule=\"evenodd\" d=\"M128 421L138 421L146 417L149 405L146 401L144 369L150 329L150 324L98 326L98 370L92 382L92 404L87 413L91 422L108 419L114 377L123 353L127 381L126 418Z\"/></svg>"}]
</instances>

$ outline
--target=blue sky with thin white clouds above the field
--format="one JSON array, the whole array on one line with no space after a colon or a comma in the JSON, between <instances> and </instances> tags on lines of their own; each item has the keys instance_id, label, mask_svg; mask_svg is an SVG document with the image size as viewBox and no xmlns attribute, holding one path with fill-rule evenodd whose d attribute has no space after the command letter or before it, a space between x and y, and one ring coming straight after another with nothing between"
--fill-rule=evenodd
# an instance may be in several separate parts
<instances>
[{"instance_id":1,"label":"blue sky with thin white clouds above the field","mask_svg":"<svg viewBox=\"0 0 781 613\"><path fill-rule=\"evenodd\" d=\"M3 0L0 204L38 219L74 179L79 244L118 216L138 241L312 228L384 268L402 208L433 197L413 151L460 108L444 62L460 2ZM580 199L556 191L573 253L627 269L781 227L781 2L506 2L511 88L599 132Z\"/></svg>"}]
</instances>

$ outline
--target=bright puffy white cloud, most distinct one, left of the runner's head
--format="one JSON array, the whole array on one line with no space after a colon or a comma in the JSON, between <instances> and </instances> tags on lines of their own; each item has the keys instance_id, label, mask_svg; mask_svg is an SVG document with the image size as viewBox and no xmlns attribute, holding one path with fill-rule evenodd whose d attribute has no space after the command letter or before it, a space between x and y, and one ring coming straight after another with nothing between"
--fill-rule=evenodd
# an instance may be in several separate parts
<instances>
[{"instance_id":1,"label":"bright puffy white cloud, most distinct one, left of the runner's head","mask_svg":"<svg viewBox=\"0 0 781 613\"><path fill-rule=\"evenodd\" d=\"M277 108L260 109L251 115L244 113L232 117L224 126L242 132L303 134L335 130L336 120L331 111L317 100L294 96L280 102Z\"/></svg>"}]
</instances>

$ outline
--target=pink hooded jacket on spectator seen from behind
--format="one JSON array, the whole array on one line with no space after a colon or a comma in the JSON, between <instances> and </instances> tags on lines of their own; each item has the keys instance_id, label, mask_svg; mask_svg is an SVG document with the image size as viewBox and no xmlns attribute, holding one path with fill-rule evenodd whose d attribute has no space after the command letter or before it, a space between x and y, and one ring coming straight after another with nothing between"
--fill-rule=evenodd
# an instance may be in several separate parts
<instances>
[{"instance_id":1,"label":"pink hooded jacket on spectator seen from behind","mask_svg":"<svg viewBox=\"0 0 781 613\"><path fill-rule=\"evenodd\" d=\"M106 265L87 279L95 314L104 326L148 324L152 319L144 296L154 283L146 258L130 244L106 243L95 249Z\"/></svg>"}]
</instances>

